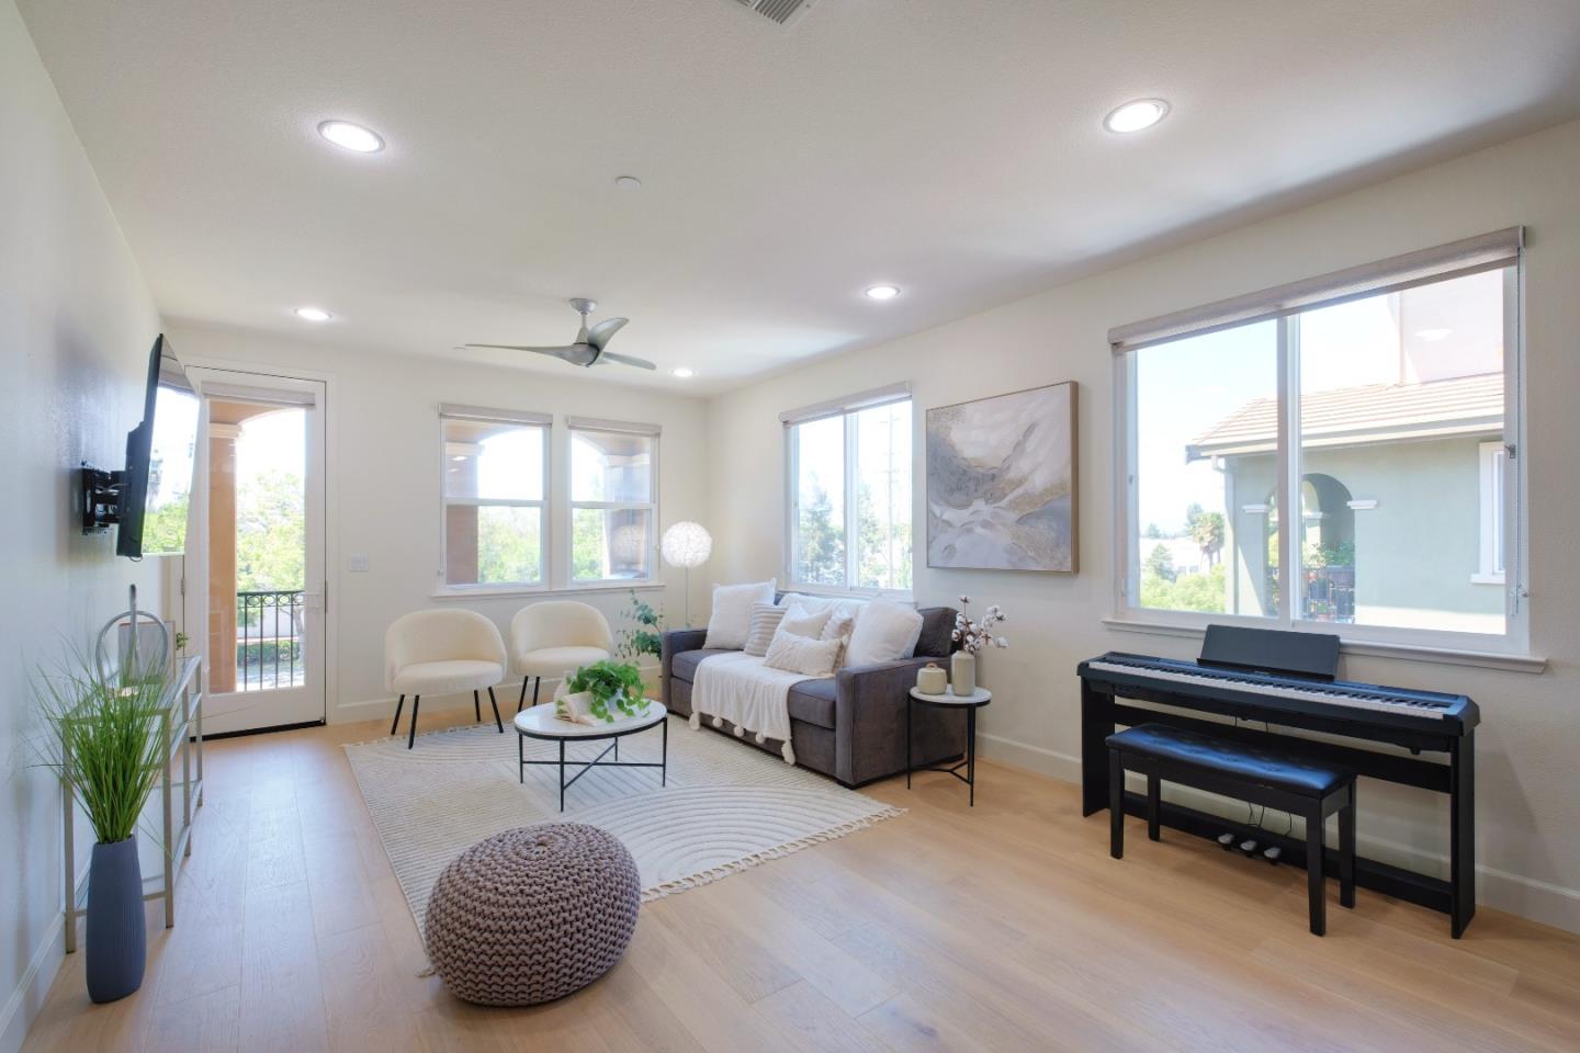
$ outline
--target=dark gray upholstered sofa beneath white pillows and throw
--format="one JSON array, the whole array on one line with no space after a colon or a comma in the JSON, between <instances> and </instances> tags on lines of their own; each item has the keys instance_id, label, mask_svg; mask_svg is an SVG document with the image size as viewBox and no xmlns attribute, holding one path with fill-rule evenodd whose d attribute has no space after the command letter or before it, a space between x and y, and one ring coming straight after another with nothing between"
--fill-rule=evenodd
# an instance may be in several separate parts
<instances>
[{"instance_id":1,"label":"dark gray upholstered sofa beneath white pillows and throw","mask_svg":"<svg viewBox=\"0 0 1580 1053\"><path fill-rule=\"evenodd\" d=\"M833 677L803 680L790 688L790 737L799 767L831 775L845 786L861 786L905 770L905 701L916 685L916 669L937 661L948 665L954 649L950 633L954 609L920 608L921 638L916 657L899 661L845 668ZM692 680L697 665L708 655L703 628L664 633L664 704L670 712L690 717ZM934 706L918 706L913 714L912 759L916 766L939 764L965 751L965 721L961 714ZM708 728L705 723L703 728ZM722 731L732 734L725 721ZM781 742L762 745L747 734L739 742L777 755Z\"/></svg>"}]
</instances>

